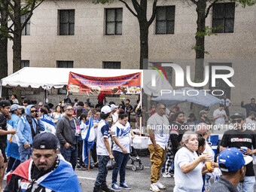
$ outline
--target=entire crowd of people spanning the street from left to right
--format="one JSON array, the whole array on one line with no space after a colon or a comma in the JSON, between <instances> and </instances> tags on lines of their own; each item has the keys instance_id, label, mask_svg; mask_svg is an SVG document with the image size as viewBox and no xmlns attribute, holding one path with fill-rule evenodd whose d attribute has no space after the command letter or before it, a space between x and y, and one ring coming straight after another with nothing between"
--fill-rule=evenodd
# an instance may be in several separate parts
<instances>
[{"instance_id":1,"label":"entire crowd of people spanning the street from left to right","mask_svg":"<svg viewBox=\"0 0 256 192\"><path fill-rule=\"evenodd\" d=\"M139 118L143 117L139 100L134 107L130 99L120 105L114 102L104 105L105 96L99 94L96 105L90 99L86 102L75 99L72 105L70 99L67 99L53 110L53 105L43 102L39 102L38 106L32 105L26 98L19 105L16 97L13 95L9 100L0 101L0 191L69 191L68 185L52 186L49 182L53 181L50 179L64 181L69 176L77 187L75 191L81 191L75 169L93 168L98 168L94 192L131 189L126 184L125 175L126 164L135 150L131 113L136 114L136 127L139 126ZM209 120L208 108L200 111L197 120L193 113L186 118L178 105L172 106L170 110L161 103L152 105L151 109L145 111L150 116L148 127L172 125L172 128L148 130L150 190L166 188L160 183L162 173L165 178L175 177L174 191L221 191L222 185L230 191L233 188L253 191L255 178L252 158L248 160L241 154L256 154L255 133L247 129L255 125L254 102L255 99L251 99L247 105L241 102L246 117L239 113L230 116L231 102L224 96L219 108L213 113L213 123ZM212 124L224 123L233 124L238 129L224 133L219 150L221 154L216 154L207 139ZM182 129L182 126L190 129ZM227 154L236 156L236 148L239 149L236 153L239 166L234 168L233 162L227 160ZM136 159L139 160L139 157ZM111 187L108 187L106 177L110 160L114 160L116 166L112 172ZM65 176L58 178L59 172L65 170ZM30 172L31 178L27 177L27 172ZM56 178L49 177L50 172ZM212 187L211 177L216 181ZM229 180L233 177L237 177L236 182ZM44 178L48 179L45 179L45 183ZM2 187L3 180L8 181L5 190Z\"/></svg>"}]
</instances>

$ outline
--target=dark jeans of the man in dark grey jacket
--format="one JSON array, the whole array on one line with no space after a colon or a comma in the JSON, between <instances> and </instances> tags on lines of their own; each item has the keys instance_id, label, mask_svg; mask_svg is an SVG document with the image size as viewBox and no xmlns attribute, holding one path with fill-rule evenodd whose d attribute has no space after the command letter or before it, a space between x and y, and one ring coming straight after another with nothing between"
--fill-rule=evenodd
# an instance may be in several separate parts
<instances>
[{"instance_id":1,"label":"dark jeans of the man in dark grey jacket","mask_svg":"<svg viewBox=\"0 0 256 192\"><path fill-rule=\"evenodd\" d=\"M72 164L73 169L75 170L75 166L78 161L78 149L76 146L71 146L69 148L65 148L64 146L60 147L60 153L64 157L66 161Z\"/></svg>"}]
</instances>

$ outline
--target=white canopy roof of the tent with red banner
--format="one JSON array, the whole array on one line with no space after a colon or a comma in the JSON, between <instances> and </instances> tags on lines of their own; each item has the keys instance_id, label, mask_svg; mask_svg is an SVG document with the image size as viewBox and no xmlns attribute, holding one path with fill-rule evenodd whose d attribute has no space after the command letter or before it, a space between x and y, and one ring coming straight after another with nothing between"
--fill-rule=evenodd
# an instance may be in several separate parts
<instances>
[{"instance_id":1,"label":"white canopy roof of the tent with red banner","mask_svg":"<svg viewBox=\"0 0 256 192\"><path fill-rule=\"evenodd\" d=\"M60 89L68 84L69 72L75 72L81 75L93 77L116 77L128 75L137 72L142 73L142 88L145 93L151 96L160 96L160 90L172 90L172 86L157 75L154 70L139 69L84 69L84 68L38 68L25 67L20 71L9 75L1 80L3 87L23 87L23 88L41 88L48 90L50 88ZM157 86L151 87L151 76L155 74ZM144 82L143 82L144 81ZM1 89L2 90L2 89ZM0 96L2 95L0 90Z\"/></svg>"}]
</instances>

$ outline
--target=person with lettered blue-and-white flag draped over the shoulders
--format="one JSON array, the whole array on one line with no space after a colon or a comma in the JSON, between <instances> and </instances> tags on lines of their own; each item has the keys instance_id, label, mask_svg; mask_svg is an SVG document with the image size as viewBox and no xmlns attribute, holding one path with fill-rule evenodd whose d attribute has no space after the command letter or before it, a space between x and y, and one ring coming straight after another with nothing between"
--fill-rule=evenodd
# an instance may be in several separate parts
<instances>
[{"instance_id":1,"label":"person with lettered blue-and-white flag draped over the shoulders","mask_svg":"<svg viewBox=\"0 0 256 192\"><path fill-rule=\"evenodd\" d=\"M38 116L40 117L40 120L42 123L44 123L45 130L44 132L47 133L53 133L55 135L56 133L56 127L53 120L53 117L50 117L48 114L48 110L45 107L38 109Z\"/></svg>"}]
</instances>

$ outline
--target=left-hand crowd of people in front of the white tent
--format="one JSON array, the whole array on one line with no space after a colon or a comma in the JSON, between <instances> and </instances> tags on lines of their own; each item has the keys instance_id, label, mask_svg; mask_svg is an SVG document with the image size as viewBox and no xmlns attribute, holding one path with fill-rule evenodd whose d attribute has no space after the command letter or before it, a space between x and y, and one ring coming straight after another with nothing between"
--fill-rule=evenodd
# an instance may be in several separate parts
<instances>
[{"instance_id":1,"label":"left-hand crowd of people in front of the white tent","mask_svg":"<svg viewBox=\"0 0 256 192\"><path fill-rule=\"evenodd\" d=\"M44 186L41 183L37 183L39 185L34 187L25 187L26 190L24 190L22 184L20 187L17 186L19 185L17 182L24 178L23 175L19 175L21 167L24 168L25 165L29 165L28 161L31 160L35 164L35 180L41 179L47 173L54 171L57 166L56 162L59 163L59 160L65 160L65 162L71 164L73 172L75 169L84 170L87 168L93 169L94 167L99 169L93 191L130 189L130 186L125 182L126 164L130 160L134 139L134 133L130 126L130 114L133 112L130 99L126 99L126 103L121 102L120 105L115 105L114 102L103 105L103 102L99 101L95 106L90 102L90 99L87 99L86 102L75 99L75 105L69 102L70 99L66 99L66 102L60 102L59 105L56 105L54 111L51 109L52 106L43 102L39 102L38 106L35 106L31 104L29 99L23 99L22 105L19 105L19 102L14 104L13 100L13 97L11 97L10 100L2 99L0 102L1 191L3 191L3 179L9 180L10 176L11 180L4 191L41 191L43 188L47 189L48 185ZM138 104L139 102L134 108L137 113L141 111ZM54 146L37 144L36 146L39 147L35 148L35 139L38 136L40 138L44 137L43 142L45 142L45 139L48 139L49 143L54 142L52 136L48 137L53 141L44 136L45 133L53 135L57 141L56 145L59 147L56 147L55 144ZM44 146L44 148L40 146ZM57 150L57 148L59 149ZM38 152L38 150L44 151L44 149L51 151L49 154ZM41 158L41 156L44 156L44 158ZM51 158L53 156L56 156L54 160ZM41 166L44 164L46 166L47 163L35 163L39 157L45 161L52 163L54 161L55 163L41 169ZM93 157L93 160L91 160L91 157ZM108 187L106 184L108 174L106 165L111 159L115 160L116 166L112 174L111 187ZM137 156L136 159L138 160L139 157ZM34 168L31 169L30 167L26 172L34 172ZM69 172L71 172L70 169ZM70 174L75 174L73 172ZM119 184L117 184L118 174L120 175ZM22 176L22 178L16 177L16 175ZM31 183L31 181L27 182ZM81 187L78 188L75 191L81 190Z\"/></svg>"}]
</instances>

